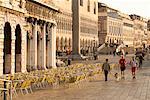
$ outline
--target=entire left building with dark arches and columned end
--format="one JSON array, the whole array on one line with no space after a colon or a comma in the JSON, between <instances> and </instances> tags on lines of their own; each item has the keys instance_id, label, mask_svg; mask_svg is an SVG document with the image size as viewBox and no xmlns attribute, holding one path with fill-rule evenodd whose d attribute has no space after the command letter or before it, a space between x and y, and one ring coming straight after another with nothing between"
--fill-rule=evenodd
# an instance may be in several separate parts
<instances>
[{"instance_id":1,"label":"entire left building with dark arches and columned end","mask_svg":"<svg viewBox=\"0 0 150 100\"><path fill-rule=\"evenodd\" d=\"M58 9L35 0L0 0L0 74L55 67Z\"/></svg>"}]
</instances>

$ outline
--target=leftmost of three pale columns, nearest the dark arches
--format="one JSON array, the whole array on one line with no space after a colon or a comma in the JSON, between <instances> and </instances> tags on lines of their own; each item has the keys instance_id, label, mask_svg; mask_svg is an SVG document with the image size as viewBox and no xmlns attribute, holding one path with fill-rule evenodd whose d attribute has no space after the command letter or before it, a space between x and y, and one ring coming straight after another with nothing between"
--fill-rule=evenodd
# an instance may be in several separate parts
<instances>
[{"instance_id":1,"label":"leftmost of three pale columns, nearest the dark arches","mask_svg":"<svg viewBox=\"0 0 150 100\"><path fill-rule=\"evenodd\" d=\"M35 22L33 27L33 39L31 46L31 65L34 69L37 69L37 22Z\"/></svg>"}]
</instances>

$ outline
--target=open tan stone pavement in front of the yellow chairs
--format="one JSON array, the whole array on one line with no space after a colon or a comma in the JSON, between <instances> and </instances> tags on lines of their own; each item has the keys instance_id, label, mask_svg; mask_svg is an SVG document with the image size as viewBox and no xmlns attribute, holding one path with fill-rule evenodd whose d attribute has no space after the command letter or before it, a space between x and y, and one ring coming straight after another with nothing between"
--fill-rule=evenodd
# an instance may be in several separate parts
<instances>
[{"instance_id":1,"label":"open tan stone pavement in front of the yellow chairs","mask_svg":"<svg viewBox=\"0 0 150 100\"><path fill-rule=\"evenodd\" d=\"M150 100L150 68L137 71L133 80L130 69L125 80L116 81L111 73L109 81L103 77L71 88L45 89L19 96L14 100Z\"/></svg>"}]
</instances>

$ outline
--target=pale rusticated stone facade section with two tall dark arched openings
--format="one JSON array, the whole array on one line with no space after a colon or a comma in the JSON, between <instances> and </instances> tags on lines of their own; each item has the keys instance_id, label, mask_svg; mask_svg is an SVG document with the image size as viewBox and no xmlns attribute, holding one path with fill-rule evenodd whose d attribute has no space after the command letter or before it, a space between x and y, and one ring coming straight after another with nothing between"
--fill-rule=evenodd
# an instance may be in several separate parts
<instances>
[{"instance_id":1,"label":"pale rusticated stone facade section with two tall dark arched openings","mask_svg":"<svg viewBox=\"0 0 150 100\"><path fill-rule=\"evenodd\" d=\"M0 0L1 75L26 70L25 12L24 0Z\"/></svg>"}]
</instances>

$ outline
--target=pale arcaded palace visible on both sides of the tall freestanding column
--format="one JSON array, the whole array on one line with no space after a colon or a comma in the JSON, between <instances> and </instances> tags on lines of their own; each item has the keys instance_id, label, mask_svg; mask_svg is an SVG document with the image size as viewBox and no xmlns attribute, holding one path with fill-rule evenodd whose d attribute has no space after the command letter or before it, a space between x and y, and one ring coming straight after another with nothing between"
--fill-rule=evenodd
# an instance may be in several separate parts
<instances>
[{"instance_id":1,"label":"pale arcaded palace visible on both sides of the tall freestanding column","mask_svg":"<svg viewBox=\"0 0 150 100\"><path fill-rule=\"evenodd\" d=\"M72 51L72 0L52 0L60 9L57 16L57 51ZM80 2L80 49L93 51L98 45L98 6L97 0L79 0ZM92 19L91 19L92 18ZM83 52L81 52L83 53Z\"/></svg>"}]
</instances>

